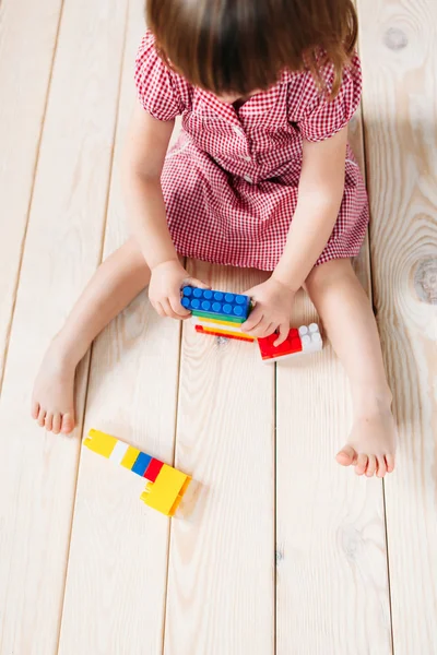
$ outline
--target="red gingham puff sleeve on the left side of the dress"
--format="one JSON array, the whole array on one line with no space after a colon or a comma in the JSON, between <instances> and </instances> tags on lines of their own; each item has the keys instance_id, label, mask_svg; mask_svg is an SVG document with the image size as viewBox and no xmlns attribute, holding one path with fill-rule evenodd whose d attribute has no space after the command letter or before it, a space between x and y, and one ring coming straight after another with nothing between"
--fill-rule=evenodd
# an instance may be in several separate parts
<instances>
[{"instance_id":1,"label":"red gingham puff sleeve on the left side of the dress","mask_svg":"<svg viewBox=\"0 0 437 655\"><path fill-rule=\"evenodd\" d=\"M137 53L135 85L145 111L158 120L174 120L182 112L173 72L155 48L155 37L146 32Z\"/></svg>"}]
</instances>

